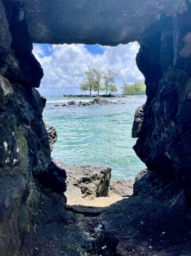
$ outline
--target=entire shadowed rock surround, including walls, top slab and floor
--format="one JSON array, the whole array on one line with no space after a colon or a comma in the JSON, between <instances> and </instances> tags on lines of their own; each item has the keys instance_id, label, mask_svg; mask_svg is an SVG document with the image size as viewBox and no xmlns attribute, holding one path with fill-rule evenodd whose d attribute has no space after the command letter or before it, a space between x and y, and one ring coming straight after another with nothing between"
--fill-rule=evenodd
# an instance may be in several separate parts
<instances>
[{"instance_id":1,"label":"entire shadowed rock surround, including walls, top slab and floor","mask_svg":"<svg viewBox=\"0 0 191 256\"><path fill-rule=\"evenodd\" d=\"M2 255L191 254L190 17L190 0L0 0ZM149 170L134 185L139 198L97 217L66 212L32 43L136 40L147 101L134 150Z\"/></svg>"}]
</instances>

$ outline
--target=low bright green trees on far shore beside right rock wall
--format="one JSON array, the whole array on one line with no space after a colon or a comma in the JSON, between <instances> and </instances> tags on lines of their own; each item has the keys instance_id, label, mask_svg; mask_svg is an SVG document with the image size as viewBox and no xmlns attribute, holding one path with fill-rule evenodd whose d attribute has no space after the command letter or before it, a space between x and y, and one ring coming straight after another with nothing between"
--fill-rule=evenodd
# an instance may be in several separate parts
<instances>
[{"instance_id":1,"label":"low bright green trees on far shore beside right rock wall","mask_svg":"<svg viewBox=\"0 0 191 256\"><path fill-rule=\"evenodd\" d=\"M122 93L125 95L145 95L146 86L144 82L128 84L123 82Z\"/></svg>"}]
</instances>

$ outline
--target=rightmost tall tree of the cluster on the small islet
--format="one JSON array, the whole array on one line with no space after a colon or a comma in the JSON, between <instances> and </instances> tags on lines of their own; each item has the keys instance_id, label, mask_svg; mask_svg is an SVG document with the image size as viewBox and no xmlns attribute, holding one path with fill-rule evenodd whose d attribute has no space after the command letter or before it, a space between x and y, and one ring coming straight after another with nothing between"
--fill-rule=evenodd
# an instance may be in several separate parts
<instances>
[{"instance_id":1,"label":"rightmost tall tree of the cluster on the small islet","mask_svg":"<svg viewBox=\"0 0 191 256\"><path fill-rule=\"evenodd\" d=\"M111 70L108 70L108 73L103 73L103 80L104 80L104 88L105 94L108 95L112 92L117 92L117 87L115 86L115 77L117 74Z\"/></svg>"}]
</instances>

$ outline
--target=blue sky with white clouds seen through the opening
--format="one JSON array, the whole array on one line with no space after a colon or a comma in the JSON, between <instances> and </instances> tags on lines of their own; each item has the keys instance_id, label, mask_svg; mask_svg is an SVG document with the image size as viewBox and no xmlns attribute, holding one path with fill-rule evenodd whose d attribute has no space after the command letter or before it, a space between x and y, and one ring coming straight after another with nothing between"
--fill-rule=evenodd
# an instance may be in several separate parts
<instances>
[{"instance_id":1,"label":"blue sky with white clouds seen through the opening","mask_svg":"<svg viewBox=\"0 0 191 256\"><path fill-rule=\"evenodd\" d=\"M116 47L99 44L34 44L33 54L44 70L38 89L41 95L82 94L79 84L86 70L96 68L117 73L118 92L122 82L134 83L144 80L136 66L137 42Z\"/></svg>"}]
</instances>

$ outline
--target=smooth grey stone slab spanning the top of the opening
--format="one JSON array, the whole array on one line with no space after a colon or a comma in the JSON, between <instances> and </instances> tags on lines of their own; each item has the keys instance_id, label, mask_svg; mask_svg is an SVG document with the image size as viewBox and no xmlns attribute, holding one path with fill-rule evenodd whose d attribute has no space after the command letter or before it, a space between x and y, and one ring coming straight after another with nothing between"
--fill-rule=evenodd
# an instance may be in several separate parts
<instances>
[{"instance_id":1,"label":"smooth grey stone slab spanning the top of the opening","mask_svg":"<svg viewBox=\"0 0 191 256\"><path fill-rule=\"evenodd\" d=\"M190 3L185 0L96 0L93 3L58 0L53 5L51 0L23 2L33 42L103 45L140 41L145 30L162 14L183 13Z\"/></svg>"}]
</instances>

